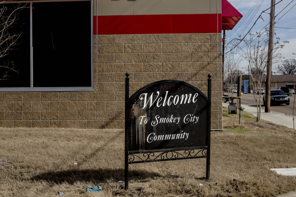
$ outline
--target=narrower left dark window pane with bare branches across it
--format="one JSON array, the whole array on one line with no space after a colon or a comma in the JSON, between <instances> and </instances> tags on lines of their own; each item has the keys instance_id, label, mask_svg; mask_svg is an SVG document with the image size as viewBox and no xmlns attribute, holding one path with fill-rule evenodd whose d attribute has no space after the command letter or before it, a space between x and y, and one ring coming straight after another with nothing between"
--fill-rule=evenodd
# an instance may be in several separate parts
<instances>
[{"instance_id":1,"label":"narrower left dark window pane with bare branches across it","mask_svg":"<svg viewBox=\"0 0 296 197\"><path fill-rule=\"evenodd\" d=\"M23 8L17 9L19 7ZM0 24L3 24L7 19L15 19L9 27L3 29L1 26L1 31L7 30L4 33L8 34L1 37L0 42L3 42L8 36L14 36L13 40L16 40L16 44L6 52L4 57L0 58L0 87L30 87L30 4L1 4L0 9L6 9L0 19ZM14 14L8 17L11 13ZM10 43L12 40L1 43L2 53Z\"/></svg>"}]
</instances>

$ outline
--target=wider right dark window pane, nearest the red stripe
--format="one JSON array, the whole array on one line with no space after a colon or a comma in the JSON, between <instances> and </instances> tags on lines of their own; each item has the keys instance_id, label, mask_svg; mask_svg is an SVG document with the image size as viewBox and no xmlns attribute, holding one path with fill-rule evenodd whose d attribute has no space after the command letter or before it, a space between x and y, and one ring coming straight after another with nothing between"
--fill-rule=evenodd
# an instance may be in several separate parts
<instances>
[{"instance_id":1,"label":"wider right dark window pane, nearest the red stripe","mask_svg":"<svg viewBox=\"0 0 296 197\"><path fill-rule=\"evenodd\" d=\"M90 2L33 4L33 87L91 87Z\"/></svg>"}]
</instances>

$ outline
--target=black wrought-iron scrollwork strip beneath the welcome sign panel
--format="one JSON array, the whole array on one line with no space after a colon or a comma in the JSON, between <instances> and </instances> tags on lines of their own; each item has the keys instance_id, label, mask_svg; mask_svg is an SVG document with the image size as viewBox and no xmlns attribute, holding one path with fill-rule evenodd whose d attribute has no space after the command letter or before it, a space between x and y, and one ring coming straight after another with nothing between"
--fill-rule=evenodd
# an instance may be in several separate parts
<instances>
[{"instance_id":1,"label":"black wrought-iron scrollwork strip beneath the welcome sign panel","mask_svg":"<svg viewBox=\"0 0 296 197\"><path fill-rule=\"evenodd\" d=\"M163 151L163 152L144 152L129 154L129 163L153 162L161 160L178 160L188 158L207 157L207 149L199 150L179 150L179 151Z\"/></svg>"}]
</instances>

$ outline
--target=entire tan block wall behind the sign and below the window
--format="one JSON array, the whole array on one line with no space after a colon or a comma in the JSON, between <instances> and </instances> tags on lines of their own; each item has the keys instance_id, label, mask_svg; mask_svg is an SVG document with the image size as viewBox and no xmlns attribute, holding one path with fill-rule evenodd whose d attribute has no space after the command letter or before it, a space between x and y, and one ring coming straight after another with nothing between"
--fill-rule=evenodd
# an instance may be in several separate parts
<instances>
[{"instance_id":1,"label":"entire tan block wall behind the sign and below the window","mask_svg":"<svg viewBox=\"0 0 296 197\"><path fill-rule=\"evenodd\" d=\"M221 41L217 34L95 35L93 92L2 92L0 126L123 129L129 72L131 95L163 79L186 81L207 95L211 74L211 127L221 129L221 42L217 40Z\"/></svg>"}]
</instances>

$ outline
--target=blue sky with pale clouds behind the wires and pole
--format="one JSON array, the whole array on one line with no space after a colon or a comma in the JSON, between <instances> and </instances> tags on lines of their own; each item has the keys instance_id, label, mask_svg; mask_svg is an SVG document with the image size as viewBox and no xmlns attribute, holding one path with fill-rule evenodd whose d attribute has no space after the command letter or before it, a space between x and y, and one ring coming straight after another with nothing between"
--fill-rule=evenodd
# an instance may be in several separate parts
<instances>
[{"instance_id":1,"label":"blue sky with pale clouds behind the wires and pole","mask_svg":"<svg viewBox=\"0 0 296 197\"><path fill-rule=\"evenodd\" d=\"M271 0L228 0L228 2L235 7L243 17L232 30L226 31L226 45L233 39L242 38L250 30L252 33L255 33L264 29L264 27L269 28ZM266 11L263 12L264 10ZM274 38L280 37L281 41L289 41L281 50L281 57L283 60L296 59L296 1L276 0L275 16L275 33L277 35L274 36ZM258 17L260 18L258 19ZM256 20L257 22L255 23ZM239 37L240 35L241 37ZM227 52L227 50L225 52ZM237 55L238 61L240 58L241 57ZM281 64L282 62L273 62L273 73L277 72L276 67ZM248 68L248 62L242 59L239 67L240 70L248 73L246 70L246 68Z\"/></svg>"}]
</instances>

